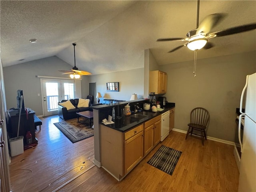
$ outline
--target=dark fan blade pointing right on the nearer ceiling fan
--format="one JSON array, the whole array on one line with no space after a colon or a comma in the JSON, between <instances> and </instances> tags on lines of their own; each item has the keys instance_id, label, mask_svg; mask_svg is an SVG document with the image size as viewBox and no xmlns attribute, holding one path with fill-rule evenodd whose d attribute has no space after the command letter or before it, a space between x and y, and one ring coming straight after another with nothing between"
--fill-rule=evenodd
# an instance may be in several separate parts
<instances>
[{"instance_id":1,"label":"dark fan blade pointing right on the nearer ceiling fan","mask_svg":"<svg viewBox=\"0 0 256 192\"><path fill-rule=\"evenodd\" d=\"M254 30L254 29L256 29L256 23L236 26L236 27L228 28L226 30L213 32L213 33L210 33L209 36L216 35L217 37L221 37L221 36L232 35L232 34L236 34L236 33L242 33L242 32L246 32L246 31L250 31L250 30Z\"/></svg>"}]
</instances>

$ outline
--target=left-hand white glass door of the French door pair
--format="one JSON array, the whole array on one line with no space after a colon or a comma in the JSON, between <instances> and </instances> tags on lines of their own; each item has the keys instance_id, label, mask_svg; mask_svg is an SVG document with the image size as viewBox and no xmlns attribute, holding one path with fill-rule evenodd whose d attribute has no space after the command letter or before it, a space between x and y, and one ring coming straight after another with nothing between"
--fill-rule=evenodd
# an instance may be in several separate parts
<instances>
[{"instance_id":1,"label":"left-hand white glass door of the French door pair","mask_svg":"<svg viewBox=\"0 0 256 192\"><path fill-rule=\"evenodd\" d=\"M61 100L61 81L42 80L44 116L58 114L58 102Z\"/></svg>"}]
</instances>

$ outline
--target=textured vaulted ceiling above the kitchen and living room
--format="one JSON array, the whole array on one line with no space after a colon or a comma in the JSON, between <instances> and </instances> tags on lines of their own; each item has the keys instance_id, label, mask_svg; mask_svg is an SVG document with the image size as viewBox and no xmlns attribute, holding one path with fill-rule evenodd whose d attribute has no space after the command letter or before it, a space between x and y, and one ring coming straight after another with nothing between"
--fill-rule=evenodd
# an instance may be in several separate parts
<instances>
[{"instance_id":1,"label":"textured vaulted ceiling above the kitchen and living room","mask_svg":"<svg viewBox=\"0 0 256 192\"><path fill-rule=\"evenodd\" d=\"M158 64L194 59L181 41L196 28L197 1L0 1L0 48L3 66L49 56L92 74L142 68L144 50ZM256 22L256 1L200 1L199 22L208 14L225 18L211 32ZM31 44L30 39L37 43ZM256 50L256 30L210 39L215 46L199 50L209 58ZM24 59L22 61L19 61ZM60 70L69 70L62 68Z\"/></svg>"}]
</instances>

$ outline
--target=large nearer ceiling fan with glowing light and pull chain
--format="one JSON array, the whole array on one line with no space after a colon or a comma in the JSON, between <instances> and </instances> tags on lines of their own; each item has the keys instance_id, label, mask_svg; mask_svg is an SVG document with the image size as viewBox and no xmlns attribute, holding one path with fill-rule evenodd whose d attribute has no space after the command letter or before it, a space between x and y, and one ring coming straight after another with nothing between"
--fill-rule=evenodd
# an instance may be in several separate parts
<instances>
[{"instance_id":1,"label":"large nearer ceiling fan with glowing light and pull chain","mask_svg":"<svg viewBox=\"0 0 256 192\"><path fill-rule=\"evenodd\" d=\"M202 48L209 49L214 45L208 40L214 37L221 37L232 35L236 33L246 32L256 29L256 23L246 24L241 26L235 26L218 32L210 32L210 30L220 22L224 17L224 14L216 13L206 16L199 25L199 6L200 0L197 1L197 18L196 18L196 29L191 30L187 33L186 38L160 38L157 41L186 41L185 44L180 45L170 52L174 52L184 46L188 47L190 50L194 51L194 76L196 76L196 52Z\"/></svg>"}]
</instances>

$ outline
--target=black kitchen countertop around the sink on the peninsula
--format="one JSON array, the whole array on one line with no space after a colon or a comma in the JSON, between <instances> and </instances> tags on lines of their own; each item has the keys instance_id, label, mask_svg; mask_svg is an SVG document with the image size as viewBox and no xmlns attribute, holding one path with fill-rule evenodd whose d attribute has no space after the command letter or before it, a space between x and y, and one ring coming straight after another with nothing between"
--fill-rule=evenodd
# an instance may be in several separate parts
<instances>
[{"instance_id":1,"label":"black kitchen countertop around the sink on the peninsula","mask_svg":"<svg viewBox=\"0 0 256 192\"><path fill-rule=\"evenodd\" d=\"M147 117L142 118L142 119L134 118L132 116L124 116L120 119L116 118L116 119L112 120L113 122L115 122L114 124L105 125L101 122L100 122L100 124L102 124L104 126L107 126L109 128L112 128L114 130L118 130L120 132L126 132L126 131L128 131L128 130L130 130L130 129L132 129L132 128L134 128L134 127L136 127L136 126L138 126L138 125L140 125L140 124L142 124L142 123L144 123L144 122L146 122L146 121L148 121L148 120L150 120L150 119L152 119L156 116L159 116L159 115L163 114L164 112L166 112L166 111L168 111L168 110L170 110L174 107L175 107L175 103L169 103L169 105L166 106L164 108L164 110L161 111L161 112L152 112L151 110L142 110L142 111L148 111L148 112L152 113L152 115L147 116ZM134 114L137 114L137 113L134 113Z\"/></svg>"}]
</instances>

